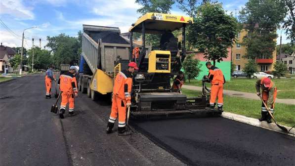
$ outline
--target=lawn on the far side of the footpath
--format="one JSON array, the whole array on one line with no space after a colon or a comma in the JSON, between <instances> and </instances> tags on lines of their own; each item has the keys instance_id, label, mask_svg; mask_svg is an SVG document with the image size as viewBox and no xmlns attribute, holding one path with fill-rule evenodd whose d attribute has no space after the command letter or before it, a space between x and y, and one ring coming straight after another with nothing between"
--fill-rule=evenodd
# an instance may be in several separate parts
<instances>
[{"instance_id":1,"label":"lawn on the far side of the footpath","mask_svg":"<svg viewBox=\"0 0 295 166\"><path fill-rule=\"evenodd\" d=\"M231 78L231 81L227 81L224 84L224 89L236 90L243 92L255 93L255 83L257 79L241 79L241 78ZM278 88L277 98L280 99L295 99L295 79L272 79ZM187 85L202 86L202 81L191 80L190 83L186 81ZM207 83L210 87L210 83Z\"/></svg>"}]
</instances>

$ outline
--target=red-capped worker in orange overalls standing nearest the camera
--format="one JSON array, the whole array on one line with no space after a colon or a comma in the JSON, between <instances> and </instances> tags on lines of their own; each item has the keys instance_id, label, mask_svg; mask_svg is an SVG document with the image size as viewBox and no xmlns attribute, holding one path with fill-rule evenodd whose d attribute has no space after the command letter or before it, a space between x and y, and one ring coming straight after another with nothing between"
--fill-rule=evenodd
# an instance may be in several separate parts
<instances>
[{"instance_id":1,"label":"red-capped worker in orange overalls standing nearest the camera","mask_svg":"<svg viewBox=\"0 0 295 166\"><path fill-rule=\"evenodd\" d=\"M138 70L135 62L128 64L127 70L122 70L116 77L113 88L112 112L107 125L106 133L111 133L119 115L118 135L130 135L126 129L126 108L131 105L132 75Z\"/></svg>"}]
</instances>

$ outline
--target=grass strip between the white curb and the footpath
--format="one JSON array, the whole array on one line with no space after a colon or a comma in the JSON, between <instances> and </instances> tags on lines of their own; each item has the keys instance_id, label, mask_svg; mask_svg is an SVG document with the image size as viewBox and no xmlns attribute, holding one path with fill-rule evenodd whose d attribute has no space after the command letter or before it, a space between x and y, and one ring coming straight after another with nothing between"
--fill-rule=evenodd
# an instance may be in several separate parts
<instances>
[{"instance_id":1,"label":"grass strip between the white curb and the footpath","mask_svg":"<svg viewBox=\"0 0 295 166\"><path fill-rule=\"evenodd\" d=\"M182 93L188 97L201 96L201 91L185 88L182 88ZM261 117L261 101L259 100L224 95L223 101L223 109L226 112L257 119ZM280 124L295 125L295 105L275 103L274 116Z\"/></svg>"}]
</instances>

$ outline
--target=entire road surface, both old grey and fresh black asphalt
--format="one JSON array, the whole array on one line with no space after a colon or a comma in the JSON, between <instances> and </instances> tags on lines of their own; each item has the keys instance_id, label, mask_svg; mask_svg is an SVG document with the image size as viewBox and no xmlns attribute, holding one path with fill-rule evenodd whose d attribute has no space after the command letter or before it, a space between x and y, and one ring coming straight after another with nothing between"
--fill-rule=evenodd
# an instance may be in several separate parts
<instances>
[{"instance_id":1,"label":"entire road surface, both old grey and fresh black asphalt","mask_svg":"<svg viewBox=\"0 0 295 166\"><path fill-rule=\"evenodd\" d=\"M131 121L131 136L108 135L107 96L79 93L77 115L60 120L44 95L42 75L0 83L0 166L295 166L295 137L281 133L195 118Z\"/></svg>"}]
</instances>

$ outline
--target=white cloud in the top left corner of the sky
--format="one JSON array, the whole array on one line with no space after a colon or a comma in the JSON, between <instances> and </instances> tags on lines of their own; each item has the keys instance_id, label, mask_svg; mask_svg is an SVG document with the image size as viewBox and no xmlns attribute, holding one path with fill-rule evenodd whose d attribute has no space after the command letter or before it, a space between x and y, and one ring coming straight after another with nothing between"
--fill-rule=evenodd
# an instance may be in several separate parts
<instances>
[{"instance_id":1,"label":"white cloud in the top left corner of the sky","mask_svg":"<svg viewBox=\"0 0 295 166\"><path fill-rule=\"evenodd\" d=\"M33 7L24 6L22 0L1 0L0 14L14 16L18 20L33 20Z\"/></svg>"}]
</instances>

